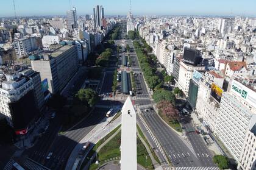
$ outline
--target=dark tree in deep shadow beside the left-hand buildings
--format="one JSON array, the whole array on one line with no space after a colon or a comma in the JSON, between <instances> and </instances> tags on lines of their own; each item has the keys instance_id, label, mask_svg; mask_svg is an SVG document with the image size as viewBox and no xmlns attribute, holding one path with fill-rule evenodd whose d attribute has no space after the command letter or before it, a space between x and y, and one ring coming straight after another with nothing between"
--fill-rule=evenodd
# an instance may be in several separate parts
<instances>
[{"instance_id":1,"label":"dark tree in deep shadow beside the left-hand buildings","mask_svg":"<svg viewBox=\"0 0 256 170\"><path fill-rule=\"evenodd\" d=\"M52 95L46 105L48 107L54 108L55 110L61 110L66 104L66 97L62 96L60 93L55 93Z\"/></svg>"}]
</instances>

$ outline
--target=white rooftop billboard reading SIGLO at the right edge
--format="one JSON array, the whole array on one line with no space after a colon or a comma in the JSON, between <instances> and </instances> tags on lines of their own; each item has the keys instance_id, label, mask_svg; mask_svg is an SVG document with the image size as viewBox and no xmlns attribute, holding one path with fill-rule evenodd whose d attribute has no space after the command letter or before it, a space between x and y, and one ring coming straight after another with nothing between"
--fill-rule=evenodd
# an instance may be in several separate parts
<instances>
[{"instance_id":1,"label":"white rooftop billboard reading SIGLO at the right edge","mask_svg":"<svg viewBox=\"0 0 256 170\"><path fill-rule=\"evenodd\" d=\"M256 93L255 91L247 88L240 82L232 80L230 91L236 96L240 97L244 101L248 102L250 105L256 104Z\"/></svg>"}]
</instances>

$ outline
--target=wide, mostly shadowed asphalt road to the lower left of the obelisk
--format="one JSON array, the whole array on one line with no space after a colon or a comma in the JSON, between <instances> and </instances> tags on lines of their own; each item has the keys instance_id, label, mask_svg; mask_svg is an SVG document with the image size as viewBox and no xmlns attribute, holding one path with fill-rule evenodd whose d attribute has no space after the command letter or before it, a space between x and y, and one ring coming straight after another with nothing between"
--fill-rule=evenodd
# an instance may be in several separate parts
<instances>
[{"instance_id":1,"label":"wide, mostly shadowed asphalt road to the lower left of the obelisk","mask_svg":"<svg viewBox=\"0 0 256 170\"><path fill-rule=\"evenodd\" d=\"M88 118L84 119L63 135L57 135L59 129L53 129L52 132L51 129L49 129L48 133L24 154L47 168L64 169L73 148L105 117L107 110L107 108L95 108ZM50 128L54 127L55 126L52 126ZM55 136L55 138L52 136ZM48 160L46 157L49 152L52 152L52 156Z\"/></svg>"}]
</instances>

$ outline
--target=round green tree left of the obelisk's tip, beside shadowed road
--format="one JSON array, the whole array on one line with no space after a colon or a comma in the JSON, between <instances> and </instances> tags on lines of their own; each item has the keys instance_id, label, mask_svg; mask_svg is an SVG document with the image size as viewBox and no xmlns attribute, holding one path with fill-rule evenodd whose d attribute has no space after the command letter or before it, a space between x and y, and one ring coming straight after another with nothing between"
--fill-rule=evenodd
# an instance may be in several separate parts
<instances>
[{"instance_id":1,"label":"round green tree left of the obelisk's tip, beside shadowed road","mask_svg":"<svg viewBox=\"0 0 256 170\"><path fill-rule=\"evenodd\" d=\"M81 88L77 92L76 97L80 102L87 104L90 107L93 107L99 100L98 93L91 88Z\"/></svg>"}]
</instances>

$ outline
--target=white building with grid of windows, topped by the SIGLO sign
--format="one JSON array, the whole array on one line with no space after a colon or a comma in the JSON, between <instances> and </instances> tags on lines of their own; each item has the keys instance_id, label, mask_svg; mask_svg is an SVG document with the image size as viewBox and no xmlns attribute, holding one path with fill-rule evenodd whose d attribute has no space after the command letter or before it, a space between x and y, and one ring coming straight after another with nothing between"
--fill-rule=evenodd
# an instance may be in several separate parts
<instances>
[{"instance_id":1,"label":"white building with grid of windows, topped by the SIGLO sign","mask_svg":"<svg viewBox=\"0 0 256 170\"><path fill-rule=\"evenodd\" d=\"M232 80L229 91L222 93L215 135L227 147L236 161L243 149L250 124L256 123L256 93Z\"/></svg>"}]
</instances>

